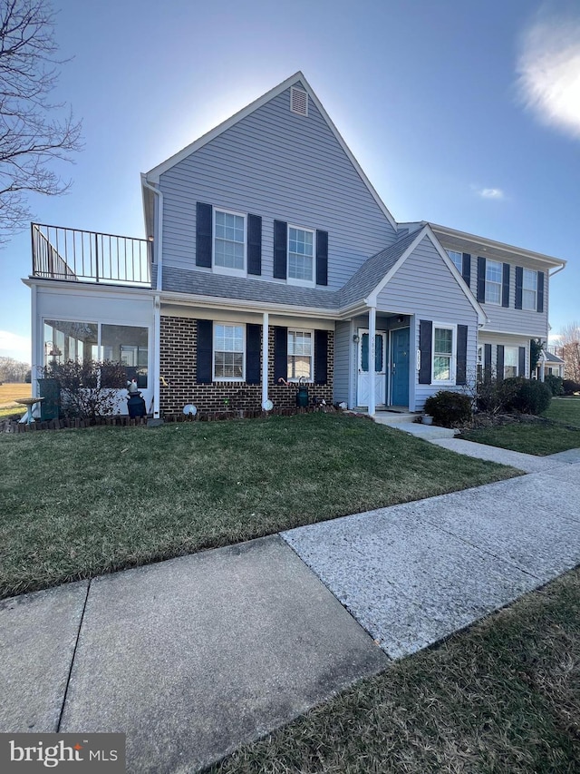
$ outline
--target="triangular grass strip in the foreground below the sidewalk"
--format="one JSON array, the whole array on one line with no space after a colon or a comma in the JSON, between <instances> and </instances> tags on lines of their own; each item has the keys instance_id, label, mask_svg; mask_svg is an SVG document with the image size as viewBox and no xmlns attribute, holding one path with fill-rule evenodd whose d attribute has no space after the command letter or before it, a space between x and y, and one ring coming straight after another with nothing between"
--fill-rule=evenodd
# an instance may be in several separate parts
<instances>
[{"instance_id":1,"label":"triangular grass strip in the foreground below the sidewalk","mask_svg":"<svg viewBox=\"0 0 580 774\"><path fill-rule=\"evenodd\" d=\"M395 662L213 774L580 770L580 571Z\"/></svg>"}]
</instances>

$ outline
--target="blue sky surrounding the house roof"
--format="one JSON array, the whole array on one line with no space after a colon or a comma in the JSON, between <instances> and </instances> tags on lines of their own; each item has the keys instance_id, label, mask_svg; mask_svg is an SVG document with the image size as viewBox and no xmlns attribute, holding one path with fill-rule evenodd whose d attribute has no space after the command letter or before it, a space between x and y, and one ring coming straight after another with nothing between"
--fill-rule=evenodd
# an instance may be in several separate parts
<instances>
[{"instance_id":1,"label":"blue sky surrounding the house roof","mask_svg":"<svg viewBox=\"0 0 580 774\"><path fill-rule=\"evenodd\" d=\"M302 70L397 220L568 260L580 318L577 0L56 0L84 150L35 220L144 236L140 172ZM0 355L29 360L30 235L0 251Z\"/></svg>"}]
</instances>

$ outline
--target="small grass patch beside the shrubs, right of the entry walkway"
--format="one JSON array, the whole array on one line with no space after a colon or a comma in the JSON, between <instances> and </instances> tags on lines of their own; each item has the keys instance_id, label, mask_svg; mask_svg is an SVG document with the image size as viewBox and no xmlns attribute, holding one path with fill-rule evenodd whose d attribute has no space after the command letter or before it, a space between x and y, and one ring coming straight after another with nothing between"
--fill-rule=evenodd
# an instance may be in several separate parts
<instances>
[{"instance_id":1,"label":"small grass patch beside the shrubs, right of the entry walkway","mask_svg":"<svg viewBox=\"0 0 580 774\"><path fill-rule=\"evenodd\" d=\"M528 455L554 455L580 448L580 398L553 398L546 422L510 424L464 430L462 438Z\"/></svg>"}]
</instances>

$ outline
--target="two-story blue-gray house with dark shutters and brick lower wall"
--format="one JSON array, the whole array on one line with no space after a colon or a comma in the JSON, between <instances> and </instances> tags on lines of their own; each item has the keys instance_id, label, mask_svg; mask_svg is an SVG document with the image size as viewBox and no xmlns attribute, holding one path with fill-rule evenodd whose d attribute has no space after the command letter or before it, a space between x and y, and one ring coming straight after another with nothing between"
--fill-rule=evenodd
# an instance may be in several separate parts
<instances>
[{"instance_id":1,"label":"two-story blue-gray house with dark shutters and brick lower wall","mask_svg":"<svg viewBox=\"0 0 580 774\"><path fill-rule=\"evenodd\" d=\"M147 240L33 226L33 364L121 360L154 416L419 411L528 375L565 261L397 223L296 73L141 176ZM372 347L374 341L374 347Z\"/></svg>"}]
</instances>

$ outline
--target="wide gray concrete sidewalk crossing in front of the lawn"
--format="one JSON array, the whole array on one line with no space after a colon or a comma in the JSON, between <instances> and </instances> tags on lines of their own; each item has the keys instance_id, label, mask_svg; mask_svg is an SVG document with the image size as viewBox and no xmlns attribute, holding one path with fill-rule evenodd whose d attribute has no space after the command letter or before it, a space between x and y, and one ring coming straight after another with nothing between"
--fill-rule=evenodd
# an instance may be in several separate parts
<instances>
[{"instance_id":1,"label":"wide gray concrete sidewalk crossing in front of the lawn","mask_svg":"<svg viewBox=\"0 0 580 774\"><path fill-rule=\"evenodd\" d=\"M0 603L0 731L121 731L129 771L200 769L580 563L580 450L542 462Z\"/></svg>"}]
</instances>

